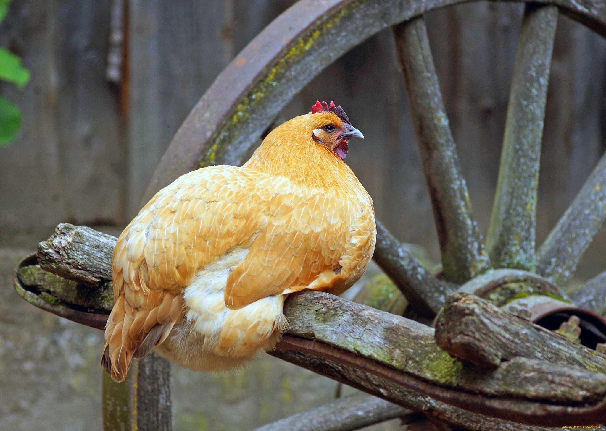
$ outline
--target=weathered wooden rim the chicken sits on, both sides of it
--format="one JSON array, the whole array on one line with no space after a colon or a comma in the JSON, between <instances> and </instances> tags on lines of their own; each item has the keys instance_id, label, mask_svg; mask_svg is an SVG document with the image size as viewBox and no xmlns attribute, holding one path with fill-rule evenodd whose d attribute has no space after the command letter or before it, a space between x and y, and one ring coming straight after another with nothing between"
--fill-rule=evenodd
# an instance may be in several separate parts
<instances>
[{"instance_id":1,"label":"weathered wooden rim the chicken sits on, both sides of it","mask_svg":"<svg viewBox=\"0 0 606 431\"><path fill-rule=\"evenodd\" d=\"M16 287L28 301L55 314L72 318L70 313L78 312L77 321L81 323L87 324L81 317L91 311L95 316L91 326L99 327L98 319L107 318L111 303L91 303L90 291L106 294L111 288L108 277L115 242L115 237L90 228L59 225L51 239L40 243L38 260L30 258L18 269ZM69 294L62 291L65 286L69 286ZM459 309L465 312L463 320ZM401 406L419 410L418 404L411 404L406 397L395 398L390 395L393 391L383 391L381 387L395 383L471 412L531 425L606 423L606 357L477 297L451 297L441 314L438 334L416 321L324 292L291 295L284 312L290 329L279 344L282 351L274 352L276 356L296 359L299 364L301 358L311 363L314 357L321 357L322 367L340 364L339 367L358 370L364 374L358 374L357 381L339 380ZM459 355L459 350L453 350L444 340L442 331L448 327L445 325L451 315L459 319L454 327L462 326L455 338L474 335L482 343L474 346L490 349L488 360L483 350L476 347L475 355L471 349L471 355L463 356L466 361L457 360L438 347L435 335L441 345ZM461 325L465 319L478 321L478 326ZM518 346L513 346L508 337L513 337ZM287 354L284 349L300 353ZM481 364L489 363L494 369L467 362L475 358L482 358ZM325 375L336 372L316 371ZM381 382L375 391L361 381L368 375Z\"/></svg>"}]
</instances>

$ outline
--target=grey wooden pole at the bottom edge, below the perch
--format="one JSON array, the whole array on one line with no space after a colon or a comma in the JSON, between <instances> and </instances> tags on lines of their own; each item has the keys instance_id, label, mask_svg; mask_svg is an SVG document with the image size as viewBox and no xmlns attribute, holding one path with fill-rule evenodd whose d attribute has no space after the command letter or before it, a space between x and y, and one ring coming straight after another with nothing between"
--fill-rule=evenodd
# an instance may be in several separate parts
<instances>
[{"instance_id":1,"label":"grey wooden pole at the bottom edge, below the perch","mask_svg":"<svg viewBox=\"0 0 606 431\"><path fill-rule=\"evenodd\" d=\"M411 410L376 396L351 395L317 409L288 416L255 431L353 431L411 413Z\"/></svg>"}]
</instances>

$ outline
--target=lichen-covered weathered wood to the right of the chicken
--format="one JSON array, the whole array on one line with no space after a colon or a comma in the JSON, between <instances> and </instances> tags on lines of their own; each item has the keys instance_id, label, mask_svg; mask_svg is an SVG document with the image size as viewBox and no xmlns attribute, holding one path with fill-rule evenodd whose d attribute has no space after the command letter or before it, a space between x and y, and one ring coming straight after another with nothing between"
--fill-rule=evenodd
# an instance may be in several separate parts
<instances>
[{"instance_id":1,"label":"lichen-covered weathered wood to the right of the chicken","mask_svg":"<svg viewBox=\"0 0 606 431\"><path fill-rule=\"evenodd\" d=\"M505 350L510 346L501 347L504 343L500 337L511 337L516 340L516 337L523 337L524 332L536 326L526 320L513 316L510 318L509 314L473 295L455 294L452 297L478 301L490 311L485 314L502 326L486 329L481 341L490 347L496 346L494 348ZM449 298L447 303L451 301L452 299ZM518 344L524 347L521 349L522 352L525 349L531 352L541 349L539 351L542 355L531 357L537 361L526 360L527 356L519 354L518 350L513 350L514 354L504 358L509 360L507 363L487 375L485 370L467 366L445 354L444 350L436 345L434 331L430 327L361 304L351 303L333 295L323 292L291 295L284 312L290 323L289 334L329 344L376 363L385 364L391 369L402 370L405 375L390 372L387 378L403 386L415 387L438 399L450 399L454 394L447 393L447 390L425 387L419 381L428 381L436 386L481 393L486 396L511 396L526 400L552 400L564 403L567 402L566 400L588 401L595 399L596 395L601 397L606 393L606 375L601 374L606 374L606 358L595 355L593 350L579 346L539 326L536 326L536 331L543 335L542 337ZM444 321L451 322L453 327L461 325L460 315L450 317L444 314L443 316ZM473 314L473 317L475 318L476 314ZM523 326L521 329L516 327L515 331L507 332L506 326L512 319L524 322L528 327ZM473 331L474 328L476 326L473 324L465 326L467 331ZM499 332L492 334L491 329ZM438 334L436 334L438 341L444 341L445 337L437 336ZM351 360L358 367L367 367L370 372L374 372L378 367L376 363L362 364L360 358L352 359L345 356L335 354L334 358L339 361ZM463 359L470 360L470 358L475 357L470 355ZM566 367L567 365L574 368ZM524 369L534 370L535 378L521 378L525 375ZM554 380L545 381L544 374L551 375ZM540 378L536 378L539 375ZM511 384L513 382L516 383Z\"/></svg>"}]
</instances>

